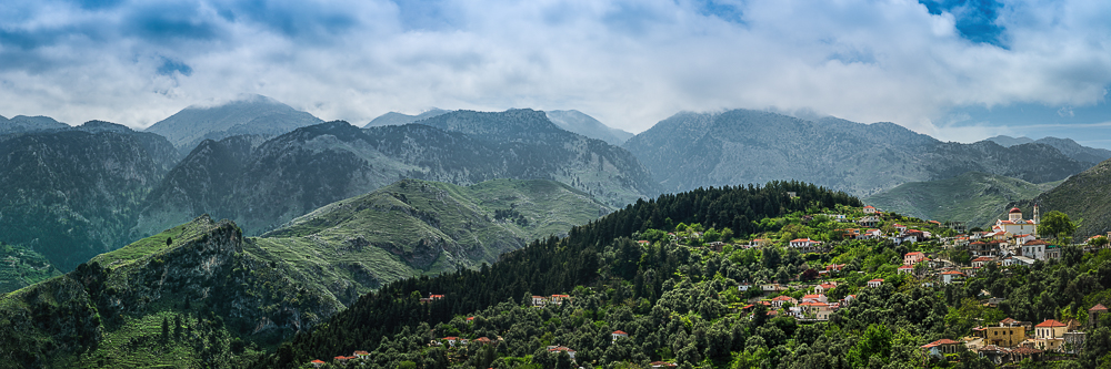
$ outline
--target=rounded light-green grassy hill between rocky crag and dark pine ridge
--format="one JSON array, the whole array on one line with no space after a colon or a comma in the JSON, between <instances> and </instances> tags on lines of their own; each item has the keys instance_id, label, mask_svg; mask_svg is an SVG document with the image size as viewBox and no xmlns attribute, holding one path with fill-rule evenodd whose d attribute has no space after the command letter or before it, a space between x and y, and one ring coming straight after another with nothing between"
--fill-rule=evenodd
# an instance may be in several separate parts
<instances>
[{"instance_id":1,"label":"rounded light-green grassy hill between rocky crag and dark pine ridge","mask_svg":"<svg viewBox=\"0 0 1111 369\"><path fill-rule=\"evenodd\" d=\"M407 180L340 201L258 238L258 245L344 304L381 285L492 264L611 209L551 181L471 186Z\"/></svg>"}]
</instances>

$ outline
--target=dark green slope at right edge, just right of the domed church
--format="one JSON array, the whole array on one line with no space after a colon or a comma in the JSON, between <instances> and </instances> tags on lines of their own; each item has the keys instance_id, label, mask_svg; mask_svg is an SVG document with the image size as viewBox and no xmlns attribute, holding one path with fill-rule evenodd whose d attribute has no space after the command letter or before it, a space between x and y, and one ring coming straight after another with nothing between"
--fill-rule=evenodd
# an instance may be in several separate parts
<instances>
[{"instance_id":1,"label":"dark green slope at right edge, just right of the domed church","mask_svg":"<svg viewBox=\"0 0 1111 369\"><path fill-rule=\"evenodd\" d=\"M1104 161L1018 206L1041 206L1041 213L1059 211L1073 222L1081 221L1077 236L1089 237L1111 232L1111 160ZM1083 238L1078 238L1083 240Z\"/></svg>"}]
</instances>

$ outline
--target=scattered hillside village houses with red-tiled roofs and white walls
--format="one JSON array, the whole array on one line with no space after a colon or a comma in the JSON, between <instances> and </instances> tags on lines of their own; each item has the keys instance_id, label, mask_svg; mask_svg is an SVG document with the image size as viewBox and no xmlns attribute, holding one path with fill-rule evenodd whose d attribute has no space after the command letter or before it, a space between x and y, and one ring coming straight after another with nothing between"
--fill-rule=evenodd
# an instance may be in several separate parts
<instances>
[{"instance_id":1,"label":"scattered hillside village houses with red-tiled roofs and white walls","mask_svg":"<svg viewBox=\"0 0 1111 369\"><path fill-rule=\"evenodd\" d=\"M1031 218L1023 218L1019 208L1011 208L1007 219L999 219L990 229L965 230L963 224L942 224L938 221L921 221L899 215L885 214L873 207L863 206L857 209L843 209L847 214L823 213L801 215L807 222L835 222L841 226L834 229L837 239L819 240L811 237L784 238L783 233L767 234L763 238L730 239L720 237L721 232L702 229L700 225L680 225L675 232L665 233L662 239L677 246L689 247L704 253L731 253L733 250L761 250L774 248L787 253L809 255L814 262L823 260L835 247L851 242L890 242L917 249L902 254L901 264L889 265L880 269L890 271L890 277L867 278L862 270L852 271L849 263L842 257L833 257L832 263L811 263L812 268L791 276L788 280L752 280L742 281L735 289L743 301L729 306L732 314L749 316L763 311L769 317L789 317L798 324L819 324L829 321L841 308L853 304L857 294L864 289L878 289L899 278L905 285L912 283L924 288L941 288L950 284L963 284L975 278L985 268L1019 268L1030 267L1034 263L1045 263L1062 257L1062 246L1051 239L1043 239L1038 234L1040 224L1039 208L1033 207ZM907 223L905 225L902 223ZM714 235L717 234L717 235ZM709 236L708 235L713 235ZM1083 243L1073 244L1085 253L1097 253L1108 248L1107 236L1093 236ZM707 240L710 239L710 240ZM655 240L661 242L661 240ZM638 244L648 247L653 240L641 239ZM843 254L850 257L849 254ZM953 257L957 256L957 257ZM878 271L883 274L882 271ZM871 274L875 275L875 273ZM838 294L835 291L855 291L857 294ZM835 296L835 297L834 297ZM431 294L420 299L421 304L430 304L443 299L444 295ZM992 297L982 291L980 304L995 307L1004 299ZM549 296L532 296L529 304L532 308L562 306L572 301L572 296L557 294ZM1087 319L1067 319L1059 321L1045 319L1040 322L1019 321L1005 318L997 322L982 324L962 337L934 340L922 345L920 350L924 357L941 358L970 351L1002 366L1022 360L1039 361L1044 358L1073 355L1083 346L1085 330L1095 328L1108 308L1097 304L1088 309ZM467 317L471 322L476 317ZM629 334L615 330L612 340L628 338ZM497 337L456 337L448 336L433 339L429 347L444 347L458 350L469 345L497 346L504 341ZM575 350L561 345L547 346L549 352L562 352L574 362ZM347 367L368 360L367 351L354 351L351 356L338 356L331 365ZM313 360L311 365L320 368L326 361ZM649 368L675 368L671 361L653 361Z\"/></svg>"}]
</instances>

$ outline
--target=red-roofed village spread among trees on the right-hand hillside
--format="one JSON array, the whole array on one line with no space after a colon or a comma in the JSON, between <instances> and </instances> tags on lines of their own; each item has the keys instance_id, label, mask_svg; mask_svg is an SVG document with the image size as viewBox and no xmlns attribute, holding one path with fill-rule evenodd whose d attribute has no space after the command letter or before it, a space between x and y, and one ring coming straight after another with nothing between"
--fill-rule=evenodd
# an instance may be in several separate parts
<instances>
[{"instance_id":1,"label":"red-roofed village spread among trees on the right-hand hillside","mask_svg":"<svg viewBox=\"0 0 1111 369\"><path fill-rule=\"evenodd\" d=\"M720 291L729 301L730 315L754 319L755 315L788 317L799 325L813 325L838 319L838 312L852 306L858 294L882 290L887 285L907 289L912 286L943 289L948 285L970 283L984 273L1008 274L1013 268L1028 268L1038 263L1055 263L1062 249L1074 247L1084 253L1099 253L1108 248L1108 236L1094 236L1080 244L1059 245L1057 238L1042 238L1038 234L1040 215L1037 206L1031 218L1024 218L1019 208L1012 208L1007 219L999 219L990 229L973 228L965 232L959 223L943 224L884 213L872 206L795 213L783 218L763 219L779 223L780 230L755 235L748 239L732 237L731 229L705 228L700 224L679 224L670 232L649 229L637 240L641 247L657 243L689 248L695 253L729 255L738 263L779 258L804 258L802 270L774 275L758 274L755 278L740 280L735 288ZM1068 240L1063 238L1061 240ZM888 244L900 254L867 255L865 245ZM767 262L764 262L767 263ZM442 299L431 294L421 298L422 304ZM531 297L529 307L558 308L572 303L567 294ZM988 290L975 296L977 308L995 309L1007 304ZM950 315L954 309L950 307ZM992 310L998 311L998 310ZM1102 304L1088 307L1082 317L1070 316L1043 321L1019 321L1012 318L978 319L978 324L963 335L947 337L919 346L922 365L947 362L962 352L971 352L995 365L1060 360L1075 356L1083 347L1085 332L1101 325L1108 308ZM459 319L459 318L457 318ZM476 317L463 321L472 324ZM1111 319L1103 320L1108 325ZM433 335L436 331L433 329ZM457 329L456 334L460 334ZM614 330L612 339L629 338L629 334ZM456 352L456 362L468 355L467 347L503 345L502 336L464 337L443 336L432 339L429 347L443 347ZM548 352L565 353L575 361L575 349L552 342ZM347 367L349 362L372 360L366 351L336 357L328 366ZM957 359L959 361L959 359ZM371 361L367 361L371 362ZM314 360L320 368L326 362ZM580 362L581 365L582 362ZM651 361L648 368L672 368L672 361ZM942 366L944 367L944 366Z\"/></svg>"}]
</instances>

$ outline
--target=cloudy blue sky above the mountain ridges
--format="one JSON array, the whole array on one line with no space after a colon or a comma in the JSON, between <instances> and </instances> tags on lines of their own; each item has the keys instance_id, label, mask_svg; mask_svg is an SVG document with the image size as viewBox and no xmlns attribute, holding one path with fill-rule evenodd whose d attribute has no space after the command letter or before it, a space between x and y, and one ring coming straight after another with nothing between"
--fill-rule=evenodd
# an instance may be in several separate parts
<instances>
[{"instance_id":1,"label":"cloudy blue sky above the mountain ridges","mask_svg":"<svg viewBox=\"0 0 1111 369\"><path fill-rule=\"evenodd\" d=\"M0 115L149 126L262 94L362 125L430 107L894 122L1111 148L1111 1L7 0Z\"/></svg>"}]
</instances>

